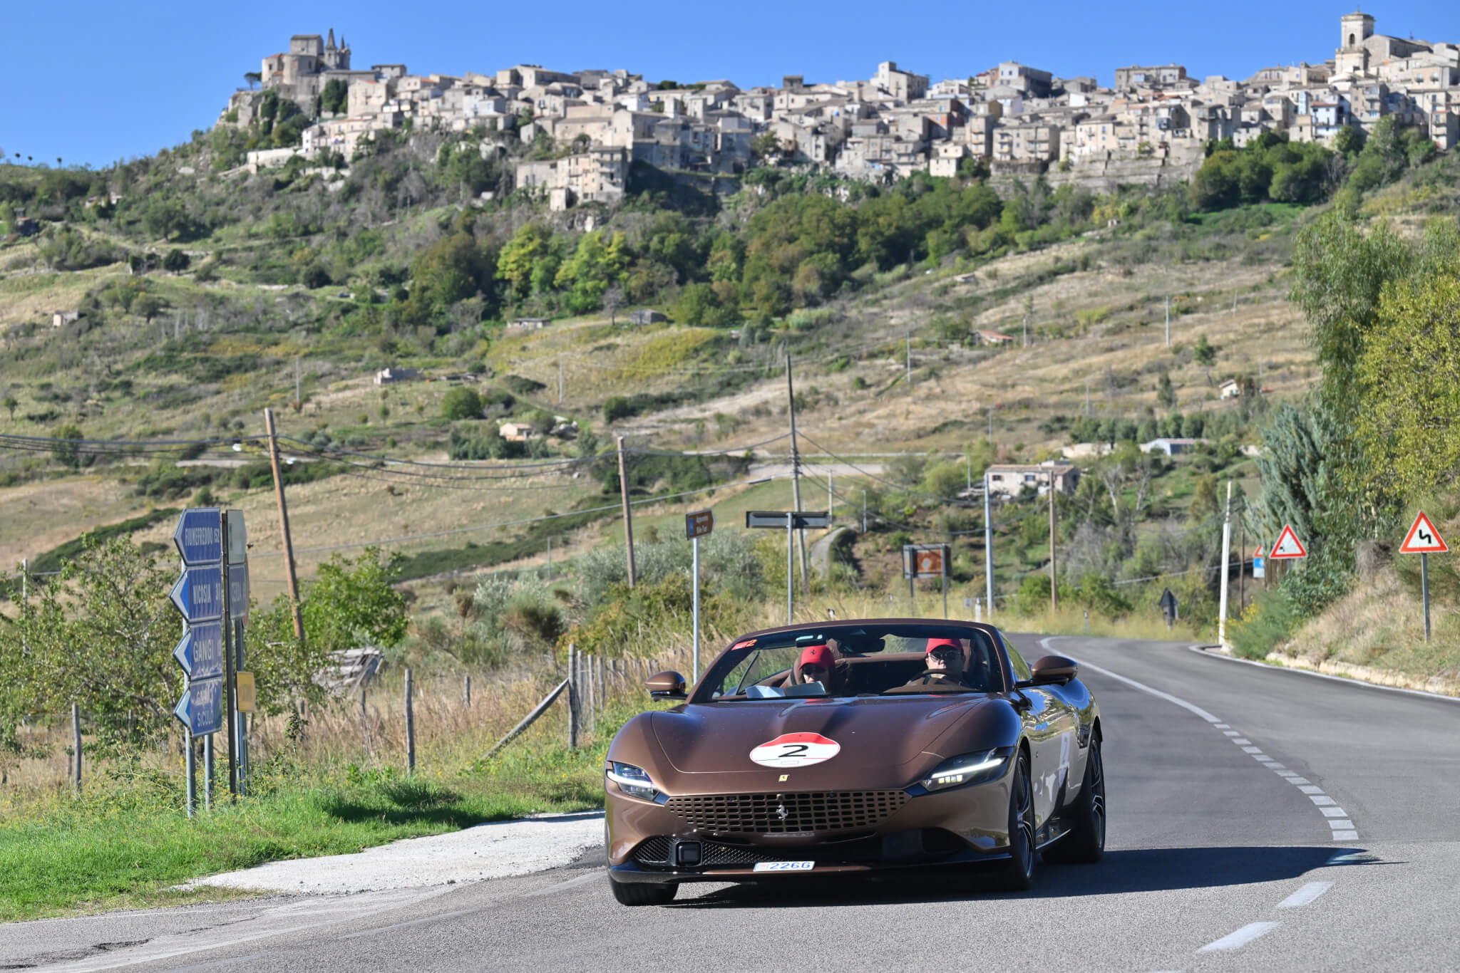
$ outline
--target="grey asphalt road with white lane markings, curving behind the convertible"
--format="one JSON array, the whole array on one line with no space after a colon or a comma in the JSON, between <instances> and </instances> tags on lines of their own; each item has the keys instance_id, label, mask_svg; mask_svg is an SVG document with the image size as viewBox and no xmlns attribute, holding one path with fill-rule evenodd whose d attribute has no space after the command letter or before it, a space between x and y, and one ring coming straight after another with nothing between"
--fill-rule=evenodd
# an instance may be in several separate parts
<instances>
[{"instance_id":1,"label":"grey asphalt road with white lane markings, curving behind the convertible","mask_svg":"<svg viewBox=\"0 0 1460 973\"><path fill-rule=\"evenodd\" d=\"M1021 636L1105 719L1099 865L686 885L618 906L602 852L526 878L0 926L0 970L1460 969L1460 703L1186 645ZM1044 642L1044 646L1041 646Z\"/></svg>"}]
</instances>

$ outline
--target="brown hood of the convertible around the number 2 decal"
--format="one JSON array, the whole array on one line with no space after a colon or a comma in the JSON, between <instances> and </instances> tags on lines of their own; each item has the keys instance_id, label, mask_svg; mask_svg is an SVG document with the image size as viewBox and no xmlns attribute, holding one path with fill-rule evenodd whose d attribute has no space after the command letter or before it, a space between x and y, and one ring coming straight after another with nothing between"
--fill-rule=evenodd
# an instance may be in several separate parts
<instances>
[{"instance_id":1,"label":"brown hood of the convertible around the number 2 decal","mask_svg":"<svg viewBox=\"0 0 1460 973\"><path fill-rule=\"evenodd\" d=\"M759 786L761 778L766 785L790 778L797 788L883 788L904 786L927 764L956 756L942 753L939 740L994 706L981 694L723 702L656 712L650 725L667 769L686 788L704 786L704 775L753 779L736 780L736 786ZM756 747L793 734L799 740L832 741L838 750L812 766L764 766L752 760ZM958 747L967 734L955 738L955 750L962 753ZM821 753L829 750L821 747Z\"/></svg>"}]
</instances>

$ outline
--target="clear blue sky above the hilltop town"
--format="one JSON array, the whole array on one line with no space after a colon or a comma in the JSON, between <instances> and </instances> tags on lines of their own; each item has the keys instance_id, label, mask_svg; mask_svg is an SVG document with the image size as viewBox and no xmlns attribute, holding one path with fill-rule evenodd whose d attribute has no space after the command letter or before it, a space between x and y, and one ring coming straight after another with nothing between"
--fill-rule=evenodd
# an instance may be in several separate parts
<instances>
[{"instance_id":1,"label":"clear blue sky above the hilltop town","mask_svg":"<svg viewBox=\"0 0 1460 973\"><path fill-rule=\"evenodd\" d=\"M1381 34L1460 41L1454 0L1371 3ZM349 10L347 19L342 13ZM60 0L6 12L0 147L54 165L107 165L187 140L291 34L350 42L355 66L404 61L458 74L517 63L559 70L623 67L650 80L729 77L742 88L783 74L870 77L877 61L965 77L1013 58L1110 85L1123 64L1186 64L1196 77L1321 63L1348 4L1315 0L867 0L739 4L420 3L254 0L248 4Z\"/></svg>"}]
</instances>

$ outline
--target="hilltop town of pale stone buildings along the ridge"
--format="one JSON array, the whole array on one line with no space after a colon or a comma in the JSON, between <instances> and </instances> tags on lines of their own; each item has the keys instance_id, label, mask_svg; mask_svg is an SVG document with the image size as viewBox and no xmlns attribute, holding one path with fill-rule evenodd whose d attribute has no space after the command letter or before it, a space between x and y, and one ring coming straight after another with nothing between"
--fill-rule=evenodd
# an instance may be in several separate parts
<instances>
[{"instance_id":1,"label":"hilltop town of pale stone buildings along the ridge","mask_svg":"<svg viewBox=\"0 0 1460 973\"><path fill-rule=\"evenodd\" d=\"M384 131L550 139L556 158L518 163L515 185L539 190L552 209L622 198L639 162L704 174L803 165L866 181L950 177L986 163L996 175L1047 172L1051 182L1110 190L1187 179L1215 140L1242 147L1278 133L1332 144L1390 115L1451 149L1460 139L1460 47L1377 34L1368 13L1343 15L1339 31L1332 58L1245 80L1197 80L1180 64L1130 66L1115 69L1107 88L1004 61L931 83L883 61L867 80L785 76L780 88L740 89L533 64L461 76L412 74L404 64L355 69L331 29L327 38L295 35L288 51L263 58L251 77L261 89L235 92L220 121L250 124L270 92L310 120L298 146L250 152L254 171L298 155L349 160Z\"/></svg>"}]
</instances>

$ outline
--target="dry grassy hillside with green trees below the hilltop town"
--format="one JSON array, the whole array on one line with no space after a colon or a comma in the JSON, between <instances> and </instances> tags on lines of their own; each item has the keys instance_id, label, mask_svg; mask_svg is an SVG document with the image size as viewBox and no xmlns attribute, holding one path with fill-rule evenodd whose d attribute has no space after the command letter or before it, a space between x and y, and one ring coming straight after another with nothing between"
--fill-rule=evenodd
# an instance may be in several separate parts
<instances>
[{"instance_id":1,"label":"dry grassy hillside with green trees below the hilltop town","mask_svg":"<svg viewBox=\"0 0 1460 973\"><path fill-rule=\"evenodd\" d=\"M1072 584L1082 572L1180 579L1210 563L1212 477L1254 496L1257 470L1238 446L1257 441L1267 403L1318 379L1288 290L1295 233L1326 207L1193 212L1180 188L1095 197L1040 184L1000 200L978 174L877 190L772 169L729 197L650 184L618 210L561 214L515 194L460 203L457 149L420 136L336 179L212 175L206 139L104 174L0 169L6 198L42 225L0 245L4 433L197 441L79 455L12 442L0 556L35 560L133 518L150 521L137 540L162 544L166 518L149 511L215 499L250 512L254 592L267 600L282 585L280 546L248 436L272 406L298 460L288 480L305 575L387 541L409 578L434 579L413 585L420 608L444 608L454 572L545 567L549 543L564 557L619 537L613 470L591 460L618 435L637 451L645 500L753 477L745 465L660 468L654 451L766 443L756 462L772 467L787 452L790 354L806 473L841 471L834 503L853 521L869 493L875 530L850 551L860 584L895 575L902 538L950 535L965 597L981 594L977 518L929 500L962 487L965 467L1190 435L1206 417L1210 454L1086 477L1061 527ZM1400 172L1364 210L1418 228L1451 206L1454 172L1450 159ZM629 324L635 306L669 319ZM80 317L53 328L58 309ZM511 327L520 317L550 324ZM991 346L978 331L1015 340ZM377 385L387 366L477 381ZM1222 400L1226 379L1260 394ZM444 406L464 388L476 411L450 419ZM495 435L508 419L546 427L553 413L577 422L577 438ZM788 493L784 481L730 486L715 503L775 508ZM702 496L639 516L673 530ZM523 522L572 511L584 512ZM996 544L1010 597L1045 563L1045 541L1022 522ZM1215 610L1203 570L1190 578L1196 617Z\"/></svg>"}]
</instances>

